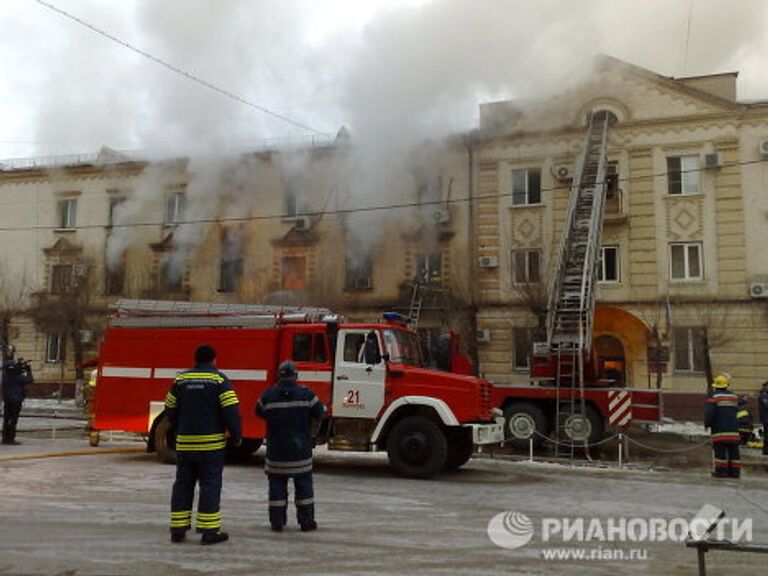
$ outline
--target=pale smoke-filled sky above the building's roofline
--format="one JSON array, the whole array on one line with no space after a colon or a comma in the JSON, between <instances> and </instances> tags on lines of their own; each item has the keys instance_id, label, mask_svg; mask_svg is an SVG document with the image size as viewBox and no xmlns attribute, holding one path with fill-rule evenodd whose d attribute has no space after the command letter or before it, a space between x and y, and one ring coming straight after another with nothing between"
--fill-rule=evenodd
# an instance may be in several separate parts
<instances>
[{"instance_id":1,"label":"pale smoke-filled sky above the building's roofline","mask_svg":"<svg viewBox=\"0 0 768 576\"><path fill-rule=\"evenodd\" d=\"M37 0L0 2L0 158L369 143L472 127L608 54L668 76L738 70L768 99L762 0ZM301 127L296 124L301 125Z\"/></svg>"}]
</instances>

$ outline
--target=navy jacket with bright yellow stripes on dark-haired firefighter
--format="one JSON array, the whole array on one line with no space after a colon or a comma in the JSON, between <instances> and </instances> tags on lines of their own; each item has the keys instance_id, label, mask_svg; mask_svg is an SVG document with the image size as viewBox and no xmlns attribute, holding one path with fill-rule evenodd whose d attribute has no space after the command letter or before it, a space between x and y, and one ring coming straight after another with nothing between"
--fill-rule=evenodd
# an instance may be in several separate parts
<instances>
[{"instance_id":1,"label":"navy jacket with bright yellow stripes on dark-haired firefighter","mask_svg":"<svg viewBox=\"0 0 768 576\"><path fill-rule=\"evenodd\" d=\"M224 433L239 443L242 437L239 401L229 379L212 364L195 366L176 376L165 397L165 412L176 432L176 450L223 450Z\"/></svg>"}]
</instances>

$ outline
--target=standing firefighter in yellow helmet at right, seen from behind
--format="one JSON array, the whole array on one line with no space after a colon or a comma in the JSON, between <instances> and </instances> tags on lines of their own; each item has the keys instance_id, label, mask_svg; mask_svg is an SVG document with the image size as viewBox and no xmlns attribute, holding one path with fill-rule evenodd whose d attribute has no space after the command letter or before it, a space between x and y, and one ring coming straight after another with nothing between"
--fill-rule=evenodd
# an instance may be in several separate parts
<instances>
[{"instance_id":1,"label":"standing firefighter in yellow helmet at right, seen from behind","mask_svg":"<svg viewBox=\"0 0 768 576\"><path fill-rule=\"evenodd\" d=\"M741 475L739 457L739 423L736 418L736 394L728 389L731 378L719 374L712 383L712 395L707 399L704 426L712 434L712 451L715 467L712 475L717 478L738 478Z\"/></svg>"}]
</instances>

